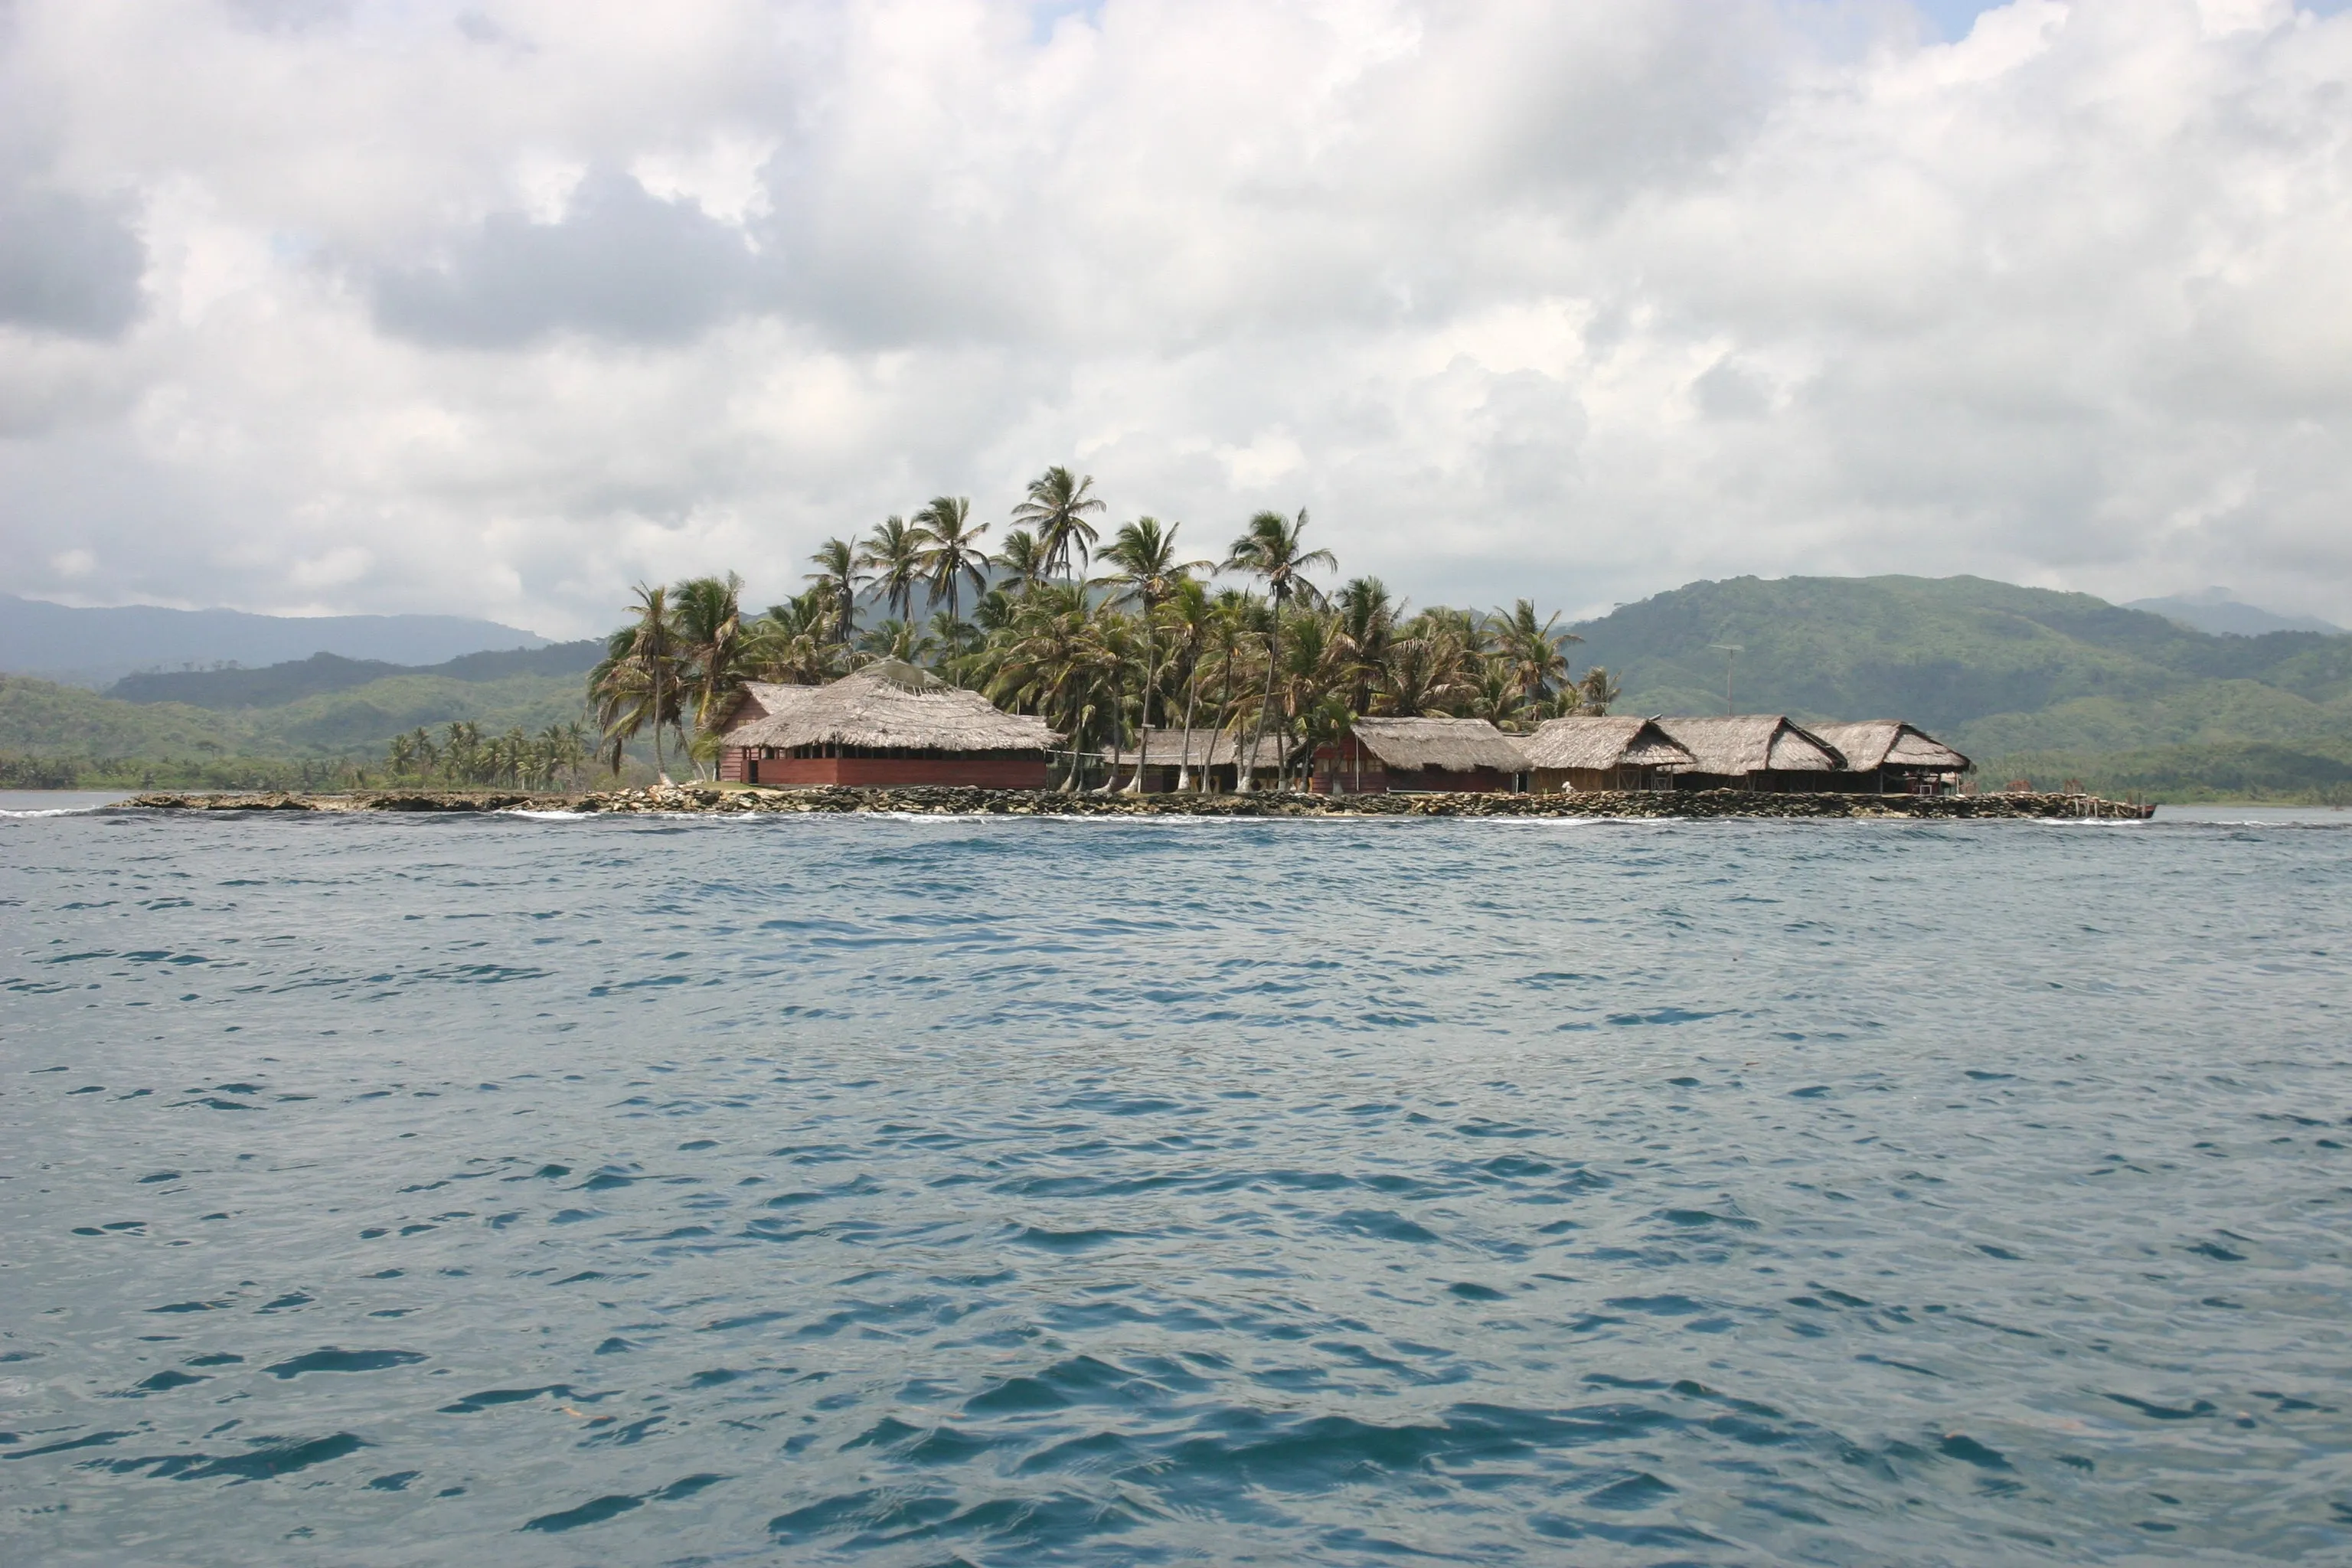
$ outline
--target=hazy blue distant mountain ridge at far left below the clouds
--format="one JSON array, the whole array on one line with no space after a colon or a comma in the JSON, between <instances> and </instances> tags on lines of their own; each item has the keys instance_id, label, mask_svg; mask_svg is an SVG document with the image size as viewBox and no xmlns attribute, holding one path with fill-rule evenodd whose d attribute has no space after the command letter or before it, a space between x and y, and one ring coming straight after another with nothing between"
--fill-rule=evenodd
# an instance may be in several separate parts
<instances>
[{"instance_id":1,"label":"hazy blue distant mountain ridge at far left below the clouds","mask_svg":"<svg viewBox=\"0 0 2352 1568\"><path fill-rule=\"evenodd\" d=\"M0 595L0 670L87 686L174 665L275 665L310 654L435 665L459 654L546 644L539 632L466 616L256 616L158 604L73 609Z\"/></svg>"}]
</instances>

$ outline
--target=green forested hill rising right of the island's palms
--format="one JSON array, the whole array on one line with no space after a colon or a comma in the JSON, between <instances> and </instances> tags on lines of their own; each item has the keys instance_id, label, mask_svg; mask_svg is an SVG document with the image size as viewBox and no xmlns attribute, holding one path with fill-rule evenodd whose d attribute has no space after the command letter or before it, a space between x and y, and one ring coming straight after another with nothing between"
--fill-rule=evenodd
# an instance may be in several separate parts
<instances>
[{"instance_id":1,"label":"green forested hill rising right of the island's palms","mask_svg":"<svg viewBox=\"0 0 2352 1568\"><path fill-rule=\"evenodd\" d=\"M1726 656L1710 644L1738 644L1740 712L1903 717L1994 771L2251 792L2352 778L2352 637L2213 637L1966 576L1691 583L1576 632L1578 668L1618 672L1618 712L1722 712ZM2232 748L2267 748L2267 773L2244 773L2251 755ZM2122 755L2138 773L2114 771Z\"/></svg>"}]
</instances>

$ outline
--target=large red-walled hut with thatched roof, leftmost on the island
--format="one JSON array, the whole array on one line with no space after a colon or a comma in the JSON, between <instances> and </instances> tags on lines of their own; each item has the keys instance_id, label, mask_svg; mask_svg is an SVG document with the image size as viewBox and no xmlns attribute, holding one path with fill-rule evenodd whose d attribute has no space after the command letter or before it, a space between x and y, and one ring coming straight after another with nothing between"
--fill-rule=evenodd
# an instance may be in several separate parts
<instances>
[{"instance_id":1,"label":"large red-walled hut with thatched roof, leftmost on the island","mask_svg":"<svg viewBox=\"0 0 2352 1568\"><path fill-rule=\"evenodd\" d=\"M1042 790L1058 741L1044 719L882 661L828 686L748 684L724 726L720 778Z\"/></svg>"}]
</instances>

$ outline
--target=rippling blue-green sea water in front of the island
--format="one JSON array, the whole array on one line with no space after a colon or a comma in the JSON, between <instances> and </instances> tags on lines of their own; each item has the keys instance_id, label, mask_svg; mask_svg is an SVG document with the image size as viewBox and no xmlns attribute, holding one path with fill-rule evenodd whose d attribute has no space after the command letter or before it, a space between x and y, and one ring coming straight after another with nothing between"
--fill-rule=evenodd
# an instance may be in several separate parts
<instances>
[{"instance_id":1,"label":"rippling blue-green sea water in front of the island","mask_svg":"<svg viewBox=\"0 0 2352 1568\"><path fill-rule=\"evenodd\" d=\"M2345 1561L2347 926L2317 823L0 820L0 1559Z\"/></svg>"}]
</instances>

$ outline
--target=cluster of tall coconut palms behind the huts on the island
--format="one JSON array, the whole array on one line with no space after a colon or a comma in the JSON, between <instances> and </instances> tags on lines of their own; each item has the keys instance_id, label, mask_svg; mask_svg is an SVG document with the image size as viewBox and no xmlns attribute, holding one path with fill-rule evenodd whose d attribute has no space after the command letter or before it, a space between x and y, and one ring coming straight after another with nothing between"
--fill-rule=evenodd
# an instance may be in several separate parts
<instances>
[{"instance_id":1,"label":"cluster of tall coconut palms behind the huts on the island","mask_svg":"<svg viewBox=\"0 0 2352 1568\"><path fill-rule=\"evenodd\" d=\"M656 766L684 755L708 771L746 682L823 684L882 658L1047 719L1068 736L1063 766L1145 726L1279 736L1291 757L1369 715L1534 729L1618 696L1609 670L1573 670L1578 637L1531 599L1414 611L1371 576L1324 588L1338 562L1303 510L1258 512L1207 557L1181 524L1110 529L1103 510L1091 475L1049 468L995 550L967 498L938 496L826 541L807 588L760 614L734 574L640 585L588 677L602 757L649 736ZM861 621L868 604L882 614Z\"/></svg>"}]
</instances>

